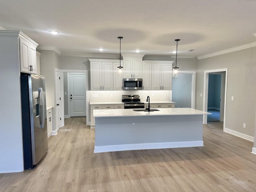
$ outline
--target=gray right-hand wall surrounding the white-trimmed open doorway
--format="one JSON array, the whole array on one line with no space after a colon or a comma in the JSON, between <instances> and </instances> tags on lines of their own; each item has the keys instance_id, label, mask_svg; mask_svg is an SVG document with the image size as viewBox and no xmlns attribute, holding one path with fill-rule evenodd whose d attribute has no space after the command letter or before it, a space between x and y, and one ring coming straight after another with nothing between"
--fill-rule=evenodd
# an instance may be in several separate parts
<instances>
[{"instance_id":1,"label":"gray right-hand wall surrounding the white-trimmed open doorway","mask_svg":"<svg viewBox=\"0 0 256 192\"><path fill-rule=\"evenodd\" d=\"M228 68L226 128L254 136L256 47L198 60L196 109L203 109L204 70L221 68Z\"/></svg>"}]
</instances>

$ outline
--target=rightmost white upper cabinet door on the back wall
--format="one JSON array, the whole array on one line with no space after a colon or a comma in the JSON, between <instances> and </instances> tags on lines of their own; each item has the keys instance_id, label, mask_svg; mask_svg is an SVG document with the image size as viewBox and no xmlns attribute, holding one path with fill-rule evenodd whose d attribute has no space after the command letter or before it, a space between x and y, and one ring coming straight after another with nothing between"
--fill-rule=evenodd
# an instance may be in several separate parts
<instances>
[{"instance_id":1,"label":"rightmost white upper cabinet door on the back wall","mask_svg":"<svg viewBox=\"0 0 256 192\"><path fill-rule=\"evenodd\" d=\"M172 65L162 64L162 89L172 89Z\"/></svg>"}]
</instances>

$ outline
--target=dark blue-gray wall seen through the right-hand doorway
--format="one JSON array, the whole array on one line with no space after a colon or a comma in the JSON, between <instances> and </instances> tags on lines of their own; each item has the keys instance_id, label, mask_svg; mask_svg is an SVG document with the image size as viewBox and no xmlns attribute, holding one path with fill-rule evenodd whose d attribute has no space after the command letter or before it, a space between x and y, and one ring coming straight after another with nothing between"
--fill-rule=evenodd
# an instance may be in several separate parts
<instances>
[{"instance_id":1,"label":"dark blue-gray wall seen through the right-hand doorway","mask_svg":"<svg viewBox=\"0 0 256 192\"><path fill-rule=\"evenodd\" d=\"M208 82L208 109L220 109L221 75L209 74Z\"/></svg>"}]
</instances>

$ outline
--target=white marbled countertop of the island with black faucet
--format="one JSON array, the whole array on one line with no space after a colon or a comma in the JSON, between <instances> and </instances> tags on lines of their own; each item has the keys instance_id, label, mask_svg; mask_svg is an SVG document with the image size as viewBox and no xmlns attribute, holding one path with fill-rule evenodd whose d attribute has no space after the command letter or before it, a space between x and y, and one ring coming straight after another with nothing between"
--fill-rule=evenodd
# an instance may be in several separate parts
<instances>
[{"instance_id":1,"label":"white marbled countertop of the island with black faucet","mask_svg":"<svg viewBox=\"0 0 256 192\"><path fill-rule=\"evenodd\" d=\"M119 117L119 116L171 116L171 115L202 115L210 114L208 112L192 108L158 108L159 111L144 112L133 111L132 109L104 109L93 110L94 117Z\"/></svg>"}]
</instances>

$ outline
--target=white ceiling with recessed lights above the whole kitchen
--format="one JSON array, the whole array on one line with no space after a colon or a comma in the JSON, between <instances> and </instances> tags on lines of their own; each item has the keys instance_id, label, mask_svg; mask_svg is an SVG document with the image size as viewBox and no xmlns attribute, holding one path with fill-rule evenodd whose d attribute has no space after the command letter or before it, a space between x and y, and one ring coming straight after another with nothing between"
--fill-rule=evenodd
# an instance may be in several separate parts
<instances>
[{"instance_id":1,"label":"white ceiling with recessed lights above the whole kitchen","mask_svg":"<svg viewBox=\"0 0 256 192\"><path fill-rule=\"evenodd\" d=\"M0 26L62 54L118 54L123 36L122 53L175 56L180 39L198 57L256 42L256 0L0 0Z\"/></svg>"}]
</instances>

